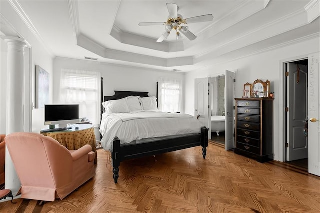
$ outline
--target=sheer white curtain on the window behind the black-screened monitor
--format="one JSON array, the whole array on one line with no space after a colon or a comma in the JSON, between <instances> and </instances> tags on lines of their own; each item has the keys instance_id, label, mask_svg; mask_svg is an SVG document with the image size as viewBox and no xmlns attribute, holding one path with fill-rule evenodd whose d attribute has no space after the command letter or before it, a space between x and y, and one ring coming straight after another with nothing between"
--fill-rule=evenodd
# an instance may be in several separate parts
<instances>
[{"instance_id":1,"label":"sheer white curtain on the window behind the black-screened monitor","mask_svg":"<svg viewBox=\"0 0 320 213\"><path fill-rule=\"evenodd\" d=\"M79 104L79 117L86 117L92 124L99 124L100 72L62 69L61 103Z\"/></svg>"}]
</instances>

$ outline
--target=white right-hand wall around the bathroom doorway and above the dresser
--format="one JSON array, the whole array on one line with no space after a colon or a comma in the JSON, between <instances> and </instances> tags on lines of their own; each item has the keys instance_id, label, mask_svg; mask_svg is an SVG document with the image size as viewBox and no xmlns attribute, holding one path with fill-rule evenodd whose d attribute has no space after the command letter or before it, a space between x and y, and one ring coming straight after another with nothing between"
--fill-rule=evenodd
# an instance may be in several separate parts
<instances>
[{"instance_id":1,"label":"white right-hand wall around the bathroom doorway and above the dresser","mask_svg":"<svg viewBox=\"0 0 320 213\"><path fill-rule=\"evenodd\" d=\"M282 64L292 59L305 58L308 54L318 52L320 38L302 41L280 47L268 52L254 54L241 59L214 64L203 70L195 70L185 74L185 113L194 115L194 79L217 76L225 70L237 70L237 97L243 96L243 85L253 83L256 79L270 80L270 91L274 91L273 102L273 148L274 159L283 161L283 133L279 123L283 123L283 74Z\"/></svg>"}]
</instances>

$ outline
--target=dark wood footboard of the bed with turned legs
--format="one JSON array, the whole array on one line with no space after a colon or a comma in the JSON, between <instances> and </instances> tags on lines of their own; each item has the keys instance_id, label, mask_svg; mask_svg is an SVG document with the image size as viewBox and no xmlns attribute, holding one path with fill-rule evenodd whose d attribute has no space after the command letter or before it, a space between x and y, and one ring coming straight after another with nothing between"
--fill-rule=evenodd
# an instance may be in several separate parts
<instances>
[{"instance_id":1,"label":"dark wood footboard of the bed with turned legs","mask_svg":"<svg viewBox=\"0 0 320 213\"><path fill-rule=\"evenodd\" d=\"M185 148L202 146L202 155L205 159L208 146L208 129L204 126L201 133L178 138L158 140L141 144L120 144L118 137L113 138L112 166L113 179L117 183L119 178L120 162L126 159L152 156ZM134 147L134 148L133 148Z\"/></svg>"}]
</instances>

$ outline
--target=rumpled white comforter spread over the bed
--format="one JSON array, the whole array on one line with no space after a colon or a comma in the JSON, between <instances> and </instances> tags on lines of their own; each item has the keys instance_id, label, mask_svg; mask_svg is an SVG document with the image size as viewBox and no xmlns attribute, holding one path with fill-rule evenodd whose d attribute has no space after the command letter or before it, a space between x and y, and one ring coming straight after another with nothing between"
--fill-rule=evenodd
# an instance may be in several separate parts
<instances>
[{"instance_id":1,"label":"rumpled white comforter spread over the bed","mask_svg":"<svg viewBox=\"0 0 320 213\"><path fill-rule=\"evenodd\" d=\"M199 133L201 123L189 114L160 111L102 114L101 144L111 150L112 139L117 136L121 144L150 137Z\"/></svg>"}]
</instances>

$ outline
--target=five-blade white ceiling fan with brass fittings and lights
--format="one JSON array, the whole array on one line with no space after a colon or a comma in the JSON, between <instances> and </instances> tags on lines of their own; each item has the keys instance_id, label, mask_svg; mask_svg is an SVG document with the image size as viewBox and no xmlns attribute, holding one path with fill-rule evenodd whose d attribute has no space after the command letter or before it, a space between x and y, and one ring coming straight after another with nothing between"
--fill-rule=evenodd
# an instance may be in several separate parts
<instances>
[{"instance_id":1,"label":"five-blade white ceiling fan with brass fittings and lights","mask_svg":"<svg viewBox=\"0 0 320 213\"><path fill-rule=\"evenodd\" d=\"M194 40L196 36L189 31L189 27L181 24L198 23L213 20L212 14L183 19L182 15L178 14L178 6L175 3L167 3L166 6L169 11L169 17L166 22L140 22L138 24L139 26L164 25L165 32L159 37L159 39L157 39L156 42L162 42L164 38L167 39L172 29L176 31L175 35L177 40L182 38L180 32L189 40Z\"/></svg>"}]
</instances>

